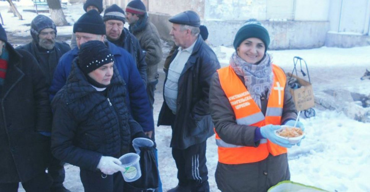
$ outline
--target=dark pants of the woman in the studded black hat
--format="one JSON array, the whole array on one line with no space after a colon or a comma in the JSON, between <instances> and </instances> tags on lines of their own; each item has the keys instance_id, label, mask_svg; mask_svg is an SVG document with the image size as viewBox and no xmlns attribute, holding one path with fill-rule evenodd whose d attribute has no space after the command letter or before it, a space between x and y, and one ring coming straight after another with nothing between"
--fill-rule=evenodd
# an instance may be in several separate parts
<instances>
[{"instance_id":1,"label":"dark pants of the woman in the studded black hat","mask_svg":"<svg viewBox=\"0 0 370 192\"><path fill-rule=\"evenodd\" d=\"M80 168L79 175L85 192L123 192L123 176L119 171L105 175L100 171Z\"/></svg>"}]
</instances>

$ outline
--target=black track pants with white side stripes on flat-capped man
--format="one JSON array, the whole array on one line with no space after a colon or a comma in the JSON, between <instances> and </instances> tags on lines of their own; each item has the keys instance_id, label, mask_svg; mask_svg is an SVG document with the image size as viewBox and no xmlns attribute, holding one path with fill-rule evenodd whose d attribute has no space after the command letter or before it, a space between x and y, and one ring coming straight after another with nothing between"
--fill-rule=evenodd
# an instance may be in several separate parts
<instances>
[{"instance_id":1,"label":"black track pants with white side stripes on flat-capped man","mask_svg":"<svg viewBox=\"0 0 370 192\"><path fill-rule=\"evenodd\" d=\"M189 186L191 192L209 192L206 166L206 141L184 150L172 148L180 186Z\"/></svg>"}]
</instances>

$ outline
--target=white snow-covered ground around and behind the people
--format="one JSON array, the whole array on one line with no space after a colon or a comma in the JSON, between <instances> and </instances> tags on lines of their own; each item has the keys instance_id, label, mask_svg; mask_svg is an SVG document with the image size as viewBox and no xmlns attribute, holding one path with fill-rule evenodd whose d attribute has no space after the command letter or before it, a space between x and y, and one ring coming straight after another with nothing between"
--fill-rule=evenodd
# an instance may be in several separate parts
<instances>
[{"instance_id":1,"label":"white snow-covered ground around and behind the people","mask_svg":"<svg viewBox=\"0 0 370 192\"><path fill-rule=\"evenodd\" d=\"M8 34L29 36L29 25L35 13L23 12L33 9L25 6L30 1L15 2L23 15L23 21L7 13L7 2L0 1L0 11ZM64 13L68 22L74 23L83 14L82 4L67 5ZM48 14L45 14L48 15ZM58 35L67 35L72 27L58 27ZM212 35L212 34L210 34ZM227 35L227 34L225 34ZM10 42L11 43L11 42ZM26 43L26 42L25 42ZM165 55L169 46L165 43ZM213 47L223 66L233 52L232 48ZM350 49L322 47L309 50L268 51L273 55L275 64L285 71L293 69L293 57L299 56L308 64L309 74L315 94L325 90L346 90L349 92L370 94L370 80L361 81L365 69L370 69L370 46ZM298 68L299 69L299 68ZM160 82L157 85L154 102L154 120L163 102L162 88L164 73L159 68ZM361 123L348 118L341 111L329 111L315 108L316 117L301 121L306 127L306 138L300 147L288 150L292 181L319 187L331 192L369 192L370 182L370 123ZM163 191L177 185L176 166L172 159L169 143L171 128L156 128L156 143L159 156L159 171ZM214 137L207 141L207 166L211 192L217 192L214 173L217 164L217 147ZM73 192L82 192L77 167L66 165L65 186Z\"/></svg>"}]
</instances>

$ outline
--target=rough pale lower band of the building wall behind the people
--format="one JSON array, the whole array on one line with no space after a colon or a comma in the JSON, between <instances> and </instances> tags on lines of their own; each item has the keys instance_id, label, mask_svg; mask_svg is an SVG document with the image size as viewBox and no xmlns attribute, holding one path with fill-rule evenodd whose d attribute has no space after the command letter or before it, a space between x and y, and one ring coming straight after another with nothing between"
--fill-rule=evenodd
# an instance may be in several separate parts
<instances>
[{"instance_id":1,"label":"rough pale lower band of the building wall behind the people","mask_svg":"<svg viewBox=\"0 0 370 192\"><path fill-rule=\"evenodd\" d=\"M169 35L172 24L169 15L150 14L150 21L156 25L161 38L172 40ZM208 28L208 40L213 46L232 46L234 37L244 21L203 20ZM327 21L262 21L270 34L271 50L305 49L321 47L325 44L329 30Z\"/></svg>"}]
</instances>

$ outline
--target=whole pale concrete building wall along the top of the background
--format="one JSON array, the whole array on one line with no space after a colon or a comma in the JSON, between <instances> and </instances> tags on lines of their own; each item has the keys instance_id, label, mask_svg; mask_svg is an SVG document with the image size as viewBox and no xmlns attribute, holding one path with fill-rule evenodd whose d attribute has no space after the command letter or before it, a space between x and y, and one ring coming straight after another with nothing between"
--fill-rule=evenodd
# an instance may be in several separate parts
<instances>
[{"instance_id":1,"label":"whole pale concrete building wall along the top of the background","mask_svg":"<svg viewBox=\"0 0 370 192\"><path fill-rule=\"evenodd\" d=\"M105 2L106 0L104 0ZM130 0L107 0L125 8ZM250 18L270 33L270 49L303 49L320 46L370 45L370 0L143 0L149 18L165 40L168 18L194 10L208 27L215 46L232 45L234 35ZM330 33L327 34L327 32ZM334 34L334 33L343 33ZM355 33L355 35L354 35ZM360 36L359 36L360 35ZM362 36L361 36L362 35Z\"/></svg>"}]
</instances>

